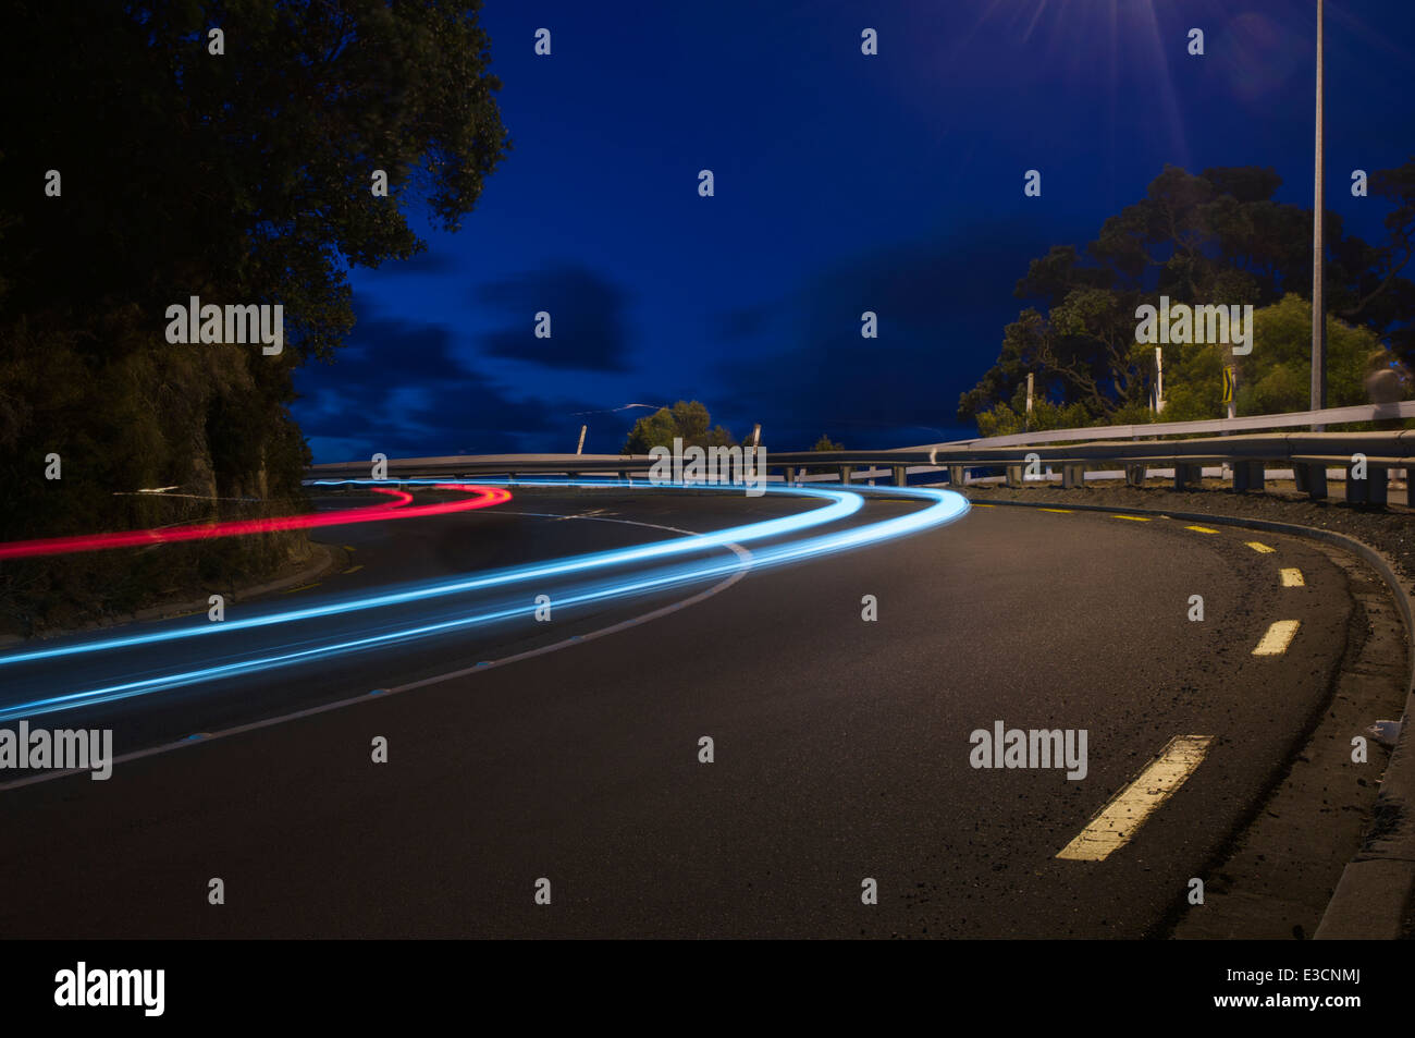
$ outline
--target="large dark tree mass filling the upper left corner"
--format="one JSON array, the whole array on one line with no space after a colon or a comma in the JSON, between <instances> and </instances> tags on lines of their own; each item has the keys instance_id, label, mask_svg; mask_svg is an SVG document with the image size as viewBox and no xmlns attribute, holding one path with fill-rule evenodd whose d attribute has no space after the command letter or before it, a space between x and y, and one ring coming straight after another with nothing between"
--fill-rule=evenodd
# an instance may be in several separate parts
<instances>
[{"instance_id":1,"label":"large dark tree mass filling the upper left corner","mask_svg":"<svg viewBox=\"0 0 1415 1038\"><path fill-rule=\"evenodd\" d=\"M205 517L151 486L304 507L291 371L352 326L350 268L424 249L410 214L457 229L509 147L478 7L7 4L0 538ZM168 344L190 296L282 304L284 353Z\"/></svg>"}]
</instances>

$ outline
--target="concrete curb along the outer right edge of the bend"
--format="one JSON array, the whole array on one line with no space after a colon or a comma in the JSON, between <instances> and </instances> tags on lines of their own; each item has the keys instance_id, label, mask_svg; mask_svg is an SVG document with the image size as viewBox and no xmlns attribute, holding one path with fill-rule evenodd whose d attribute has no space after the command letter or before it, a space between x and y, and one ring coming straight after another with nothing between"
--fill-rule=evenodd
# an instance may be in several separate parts
<instances>
[{"instance_id":1,"label":"concrete curb along the outer right edge of the bend","mask_svg":"<svg viewBox=\"0 0 1415 1038\"><path fill-rule=\"evenodd\" d=\"M969 501L1012 506L1017 508L1054 507L1056 501L1007 501L969 497ZM1135 513L1136 515L1167 515L1190 523L1230 525L1242 530L1262 530L1271 534L1288 534L1343 548L1364 559L1385 582L1391 598L1405 622L1407 681L1405 712L1401 717L1401 734L1391 752L1375 797L1374 821L1365 834L1365 841L1356 857L1341 871L1332 901L1327 902L1315 940L1395 940L1402 936L1405 911L1415 901L1415 748L1411 746L1411 714L1415 712L1415 606L1411 595L1401 583L1391 561L1375 548L1354 537L1332 530L1305 527L1296 523L1275 523L1245 517L1211 515L1196 511L1169 511L1159 508L1128 508L1124 506L1077 504L1067 501L1067 508L1075 511Z\"/></svg>"}]
</instances>

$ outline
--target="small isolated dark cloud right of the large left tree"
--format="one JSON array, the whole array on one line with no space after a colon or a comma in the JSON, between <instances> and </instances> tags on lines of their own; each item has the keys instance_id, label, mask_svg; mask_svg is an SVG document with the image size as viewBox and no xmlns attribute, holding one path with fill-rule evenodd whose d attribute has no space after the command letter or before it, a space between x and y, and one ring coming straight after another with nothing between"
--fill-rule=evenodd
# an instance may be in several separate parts
<instances>
[{"instance_id":1,"label":"small isolated dark cloud right of the large left tree","mask_svg":"<svg viewBox=\"0 0 1415 1038\"><path fill-rule=\"evenodd\" d=\"M625 293L580 263L521 273L475 292L508 323L483 337L490 357L573 371L627 371ZM535 337L535 314L550 314L550 338Z\"/></svg>"}]
</instances>

